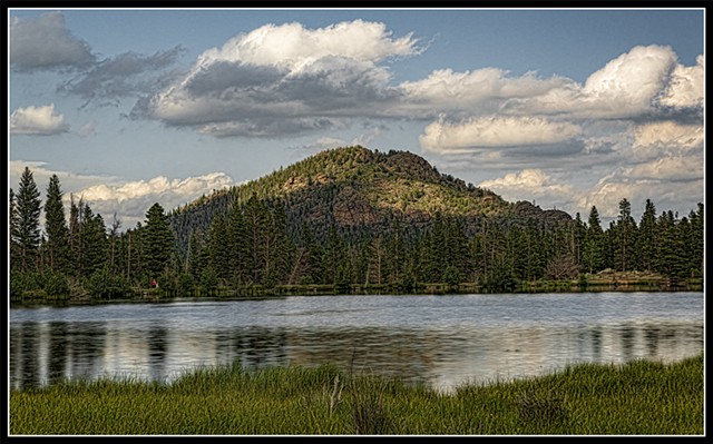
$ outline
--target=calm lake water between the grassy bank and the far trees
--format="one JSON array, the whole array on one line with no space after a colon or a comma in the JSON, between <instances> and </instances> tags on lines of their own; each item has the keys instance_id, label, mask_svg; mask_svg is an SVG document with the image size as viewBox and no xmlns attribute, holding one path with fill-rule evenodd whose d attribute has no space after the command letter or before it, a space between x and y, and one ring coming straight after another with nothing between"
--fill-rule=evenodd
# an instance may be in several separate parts
<instances>
[{"instance_id":1,"label":"calm lake water between the grassy bank and the far trees","mask_svg":"<svg viewBox=\"0 0 713 444\"><path fill-rule=\"evenodd\" d=\"M336 364L450 391L577 363L703 351L703 293L291 296L10 310L12 388L173 381L205 365Z\"/></svg>"}]
</instances>

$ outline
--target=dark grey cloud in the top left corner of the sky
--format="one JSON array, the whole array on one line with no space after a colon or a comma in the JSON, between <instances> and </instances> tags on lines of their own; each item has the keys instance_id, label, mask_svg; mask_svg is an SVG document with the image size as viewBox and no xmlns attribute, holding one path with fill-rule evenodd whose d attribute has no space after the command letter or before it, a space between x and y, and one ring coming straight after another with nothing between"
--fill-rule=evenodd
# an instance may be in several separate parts
<instances>
[{"instance_id":1,"label":"dark grey cloud in the top left corner of the sky","mask_svg":"<svg viewBox=\"0 0 713 444\"><path fill-rule=\"evenodd\" d=\"M87 68L95 61L89 45L65 27L61 12L10 20L10 66L17 71Z\"/></svg>"}]
</instances>

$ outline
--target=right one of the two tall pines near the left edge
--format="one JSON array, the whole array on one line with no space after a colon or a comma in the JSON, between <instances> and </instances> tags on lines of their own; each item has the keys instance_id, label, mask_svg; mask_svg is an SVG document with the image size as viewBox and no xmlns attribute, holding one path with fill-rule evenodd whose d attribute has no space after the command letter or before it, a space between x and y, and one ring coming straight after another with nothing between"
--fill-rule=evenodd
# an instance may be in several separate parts
<instances>
[{"instance_id":1,"label":"right one of the two tall pines near the left edge","mask_svg":"<svg viewBox=\"0 0 713 444\"><path fill-rule=\"evenodd\" d=\"M57 175L50 177L47 186L45 230L49 267L56 272L66 270L69 260L69 229L65 219L62 191Z\"/></svg>"}]
</instances>

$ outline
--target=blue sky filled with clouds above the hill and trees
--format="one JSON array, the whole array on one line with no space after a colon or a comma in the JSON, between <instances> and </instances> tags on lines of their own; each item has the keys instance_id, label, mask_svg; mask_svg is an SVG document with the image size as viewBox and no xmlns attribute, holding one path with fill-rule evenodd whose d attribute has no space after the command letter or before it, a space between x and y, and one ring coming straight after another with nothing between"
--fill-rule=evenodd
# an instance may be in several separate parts
<instances>
[{"instance_id":1,"label":"blue sky filled with clouds above the hill and trees","mask_svg":"<svg viewBox=\"0 0 713 444\"><path fill-rule=\"evenodd\" d=\"M6 14L8 186L107 226L351 145L604 228L704 201L704 9Z\"/></svg>"}]
</instances>

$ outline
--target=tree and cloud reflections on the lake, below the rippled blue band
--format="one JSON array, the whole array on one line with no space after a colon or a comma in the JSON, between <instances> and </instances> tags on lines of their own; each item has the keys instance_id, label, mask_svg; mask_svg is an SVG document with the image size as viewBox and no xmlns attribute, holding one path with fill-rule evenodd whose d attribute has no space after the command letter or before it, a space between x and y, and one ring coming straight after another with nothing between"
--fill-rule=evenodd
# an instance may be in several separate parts
<instances>
[{"instance_id":1,"label":"tree and cloud reflections on the lake, below the rippled blue band","mask_svg":"<svg viewBox=\"0 0 713 444\"><path fill-rule=\"evenodd\" d=\"M196 366L231 363L245 368L333 363L354 373L451 389L466 382L527 377L582 362L680 361L703 349L704 335L697 302L672 318L642 315L617 322L551 323L510 314L499 323L455 319L450 326L433 309L424 312L434 320L422 325L418 319L369 325L361 318L354 322L353 313L352 322L335 323L329 309L320 315L325 318L286 306L276 316L295 313L293 318L300 322L256 325L238 319L221 326L206 322L209 313L196 314L208 309L201 303L162 308L173 313L143 319L113 313L116 318L102 314L105 318L92 322L46 320L37 313L23 313L25 320L10 325L12 387L100 375L170 381ZM213 310L225 308L217 305ZM106 310L110 308L82 316ZM477 312L488 318L482 306ZM177 313L185 315L182 322L167 322Z\"/></svg>"}]
</instances>

